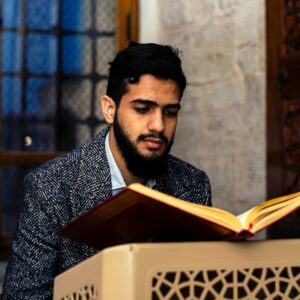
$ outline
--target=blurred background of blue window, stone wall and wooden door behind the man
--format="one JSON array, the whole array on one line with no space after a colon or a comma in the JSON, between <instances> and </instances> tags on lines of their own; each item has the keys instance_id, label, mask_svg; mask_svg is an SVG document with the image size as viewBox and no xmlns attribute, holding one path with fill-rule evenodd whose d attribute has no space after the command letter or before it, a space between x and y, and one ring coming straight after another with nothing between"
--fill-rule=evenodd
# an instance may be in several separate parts
<instances>
[{"instance_id":1,"label":"blurred background of blue window, stone wall and wooden door behind the man","mask_svg":"<svg viewBox=\"0 0 300 300\"><path fill-rule=\"evenodd\" d=\"M300 1L1 0L0 258L24 175L105 126L108 62L129 40L183 50L173 153L235 214L299 191ZM297 238L299 214L261 237Z\"/></svg>"}]
</instances>

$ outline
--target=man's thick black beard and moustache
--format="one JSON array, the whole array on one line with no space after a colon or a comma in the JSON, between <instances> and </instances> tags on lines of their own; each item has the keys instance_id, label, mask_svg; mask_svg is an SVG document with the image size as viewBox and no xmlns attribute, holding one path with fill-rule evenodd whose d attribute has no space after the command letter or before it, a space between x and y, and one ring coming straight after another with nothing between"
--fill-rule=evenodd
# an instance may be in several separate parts
<instances>
[{"instance_id":1,"label":"man's thick black beard and moustache","mask_svg":"<svg viewBox=\"0 0 300 300\"><path fill-rule=\"evenodd\" d=\"M161 155L158 155L155 152L149 155L142 155L138 152L136 145L130 140L129 135L119 123L118 113L115 116L113 129L119 150L126 162L127 169L133 175L155 178L167 170L167 158L172 148L173 139L168 141L167 137L161 133L140 135L137 139L137 143L142 142L146 138L155 137L161 139L161 141L167 145L164 153Z\"/></svg>"}]
</instances>

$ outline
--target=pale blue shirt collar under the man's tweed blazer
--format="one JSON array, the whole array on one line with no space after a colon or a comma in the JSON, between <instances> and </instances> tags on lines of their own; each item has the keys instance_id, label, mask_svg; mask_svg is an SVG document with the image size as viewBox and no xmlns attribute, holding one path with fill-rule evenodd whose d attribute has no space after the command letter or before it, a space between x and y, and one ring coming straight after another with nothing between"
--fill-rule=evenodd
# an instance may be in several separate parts
<instances>
[{"instance_id":1,"label":"pale blue shirt collar under the man's tweed blazer","mask_svg":"<svg viewBox=\"0 0 300 300\"><path fill-rule=\"evenodd\" d=\"M111 175L111 187L112 187L112 194L116 194L117 192L121 191L126 187L126 183L124 180L124 177L112 155L112 152L109 147L109 133L105 137L105 152L106 157L110 169L110 175ZM156 184L156 181L154 178L149 178L146 182L146 186L153 188Z\"/></svg>"}]
</instances>

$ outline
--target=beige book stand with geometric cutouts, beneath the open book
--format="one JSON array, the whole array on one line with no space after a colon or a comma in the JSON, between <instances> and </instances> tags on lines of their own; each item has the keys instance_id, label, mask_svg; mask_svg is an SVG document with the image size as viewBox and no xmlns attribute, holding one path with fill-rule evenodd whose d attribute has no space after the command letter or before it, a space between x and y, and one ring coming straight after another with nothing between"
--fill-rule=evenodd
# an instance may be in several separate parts
<instances>
[{"instance_id":1,"label":"beige book stand with geometric cutouts, beneath the open book","mask_svg":"<svg viewBox=\"0 0 300 300\"><path fill-rule=\"evenodd\" d=\"M54 299L300 299L300 240L111 247L57 276Z\"/></svg>"}]
</instances>

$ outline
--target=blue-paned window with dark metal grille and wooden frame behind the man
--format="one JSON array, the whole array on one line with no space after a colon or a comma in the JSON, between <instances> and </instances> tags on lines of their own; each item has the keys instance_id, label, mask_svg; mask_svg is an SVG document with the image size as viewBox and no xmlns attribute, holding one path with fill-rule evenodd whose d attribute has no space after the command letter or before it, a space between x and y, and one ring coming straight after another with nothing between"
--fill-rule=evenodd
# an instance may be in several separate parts
<instances>
[{"instance_id":1,"label":"blue-paned window with dark metal grille and wooden frame behind the man","mask_svg":"<svg viewBox=\"0 0 300 300\"><path fill-rule=\"evenodd\" d=\"M118 21L129 24L130 9L123 12L119 3L0 1L2 236L15 230L24 175L105 126L98 98L105 94L108 62L120 37L130 38L129 25Z\"/></svg>"}]
</instances>

